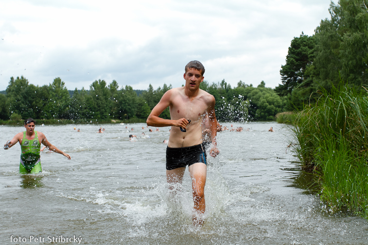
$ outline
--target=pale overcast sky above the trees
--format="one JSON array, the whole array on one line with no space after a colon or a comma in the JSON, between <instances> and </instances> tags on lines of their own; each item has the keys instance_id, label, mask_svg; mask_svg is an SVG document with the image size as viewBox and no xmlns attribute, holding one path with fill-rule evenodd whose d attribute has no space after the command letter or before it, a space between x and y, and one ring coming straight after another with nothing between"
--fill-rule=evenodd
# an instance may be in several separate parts
<instances>
[{"instance_id":1,"label":"pale overcast sky above the trees","mask_svg":"<svg viewBox=\"0 0 368 245\"><path fill-rule=\"evenodd\" d=\"M184 83L199 60L209 83L274 88L291 40L330 18L330 0L0 0L0 91L10 78L95 80L146 90Z\"/></svg>"}]
</instances>

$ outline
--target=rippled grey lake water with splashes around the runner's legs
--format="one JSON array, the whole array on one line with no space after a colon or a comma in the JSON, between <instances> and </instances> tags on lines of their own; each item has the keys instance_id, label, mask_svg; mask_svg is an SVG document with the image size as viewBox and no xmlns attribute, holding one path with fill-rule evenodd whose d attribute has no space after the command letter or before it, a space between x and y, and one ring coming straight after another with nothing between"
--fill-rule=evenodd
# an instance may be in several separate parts
<instances>
[{"instance_id":1,"label":"rippled grey lake water with splashes around the runner's legs","mask_svg":"<svg viewBox=\"0 0 368 245\"><path fill-rule=\"evenodd\" d=\"M100 126L105 133L97 133ZM221 153L208 159L205 224L198 228L192 225L188 170L182 192L169 197L162 144L169 128L36 125L71 161L46 150L42 173L20 175L20 146L0 150L0 244L368 244L366 219L331 213L318 196L299 188L308 175L287 149L286 125L237 126L250 131L219 132ZM1 144L20 131L0 126ZM142 132L150 138L141 138ZM129 142L129 134L138 141Z\"/></svg>"}]
</instances>

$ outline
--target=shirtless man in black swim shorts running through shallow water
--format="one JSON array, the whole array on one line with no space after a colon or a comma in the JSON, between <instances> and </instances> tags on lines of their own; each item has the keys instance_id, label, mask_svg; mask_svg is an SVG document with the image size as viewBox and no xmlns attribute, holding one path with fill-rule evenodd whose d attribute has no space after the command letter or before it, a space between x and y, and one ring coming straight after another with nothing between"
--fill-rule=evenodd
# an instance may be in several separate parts
<instances>
[{"instance_id":1,"label":"shirtless man in black swim shorts running through shallow water","mask_svg":"<svg viewBox=\"0 0 368 245\"><path fill-rule=\"evenodd\" d=\"M215 98L199 89L203 82L204 66L191 61L185 66L185 86L167 91L148 116L147 125L152 127L171 126L169 143L166 148L166 180L173 189L181 183L188 165L192 178L194 210L193 223L201 225L206 210L204 188L207 175L206 151L202 145L202 120L209 116L212 147L210 155L219 154L216 144ZM170 108L171 119L159 115Z\"/></svg>"}]
</instances>

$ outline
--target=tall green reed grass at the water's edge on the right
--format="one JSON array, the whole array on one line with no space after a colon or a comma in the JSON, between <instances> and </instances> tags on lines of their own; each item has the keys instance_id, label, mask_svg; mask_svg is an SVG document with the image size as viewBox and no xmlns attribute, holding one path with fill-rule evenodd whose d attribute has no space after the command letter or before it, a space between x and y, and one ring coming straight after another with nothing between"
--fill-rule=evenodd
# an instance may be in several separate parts
<instances>
[{"instance_id":1,"label":"tall green reed grass at the water's edge on the right","mask_svg":"<svg viewBox=\"0 0 368 245\"><path fill-rule=\"evenodd\" d=\"M368 217L368 92L342 83L321 92L296 118L294 150L332 210Z\"/></svg>"}]
</instances>

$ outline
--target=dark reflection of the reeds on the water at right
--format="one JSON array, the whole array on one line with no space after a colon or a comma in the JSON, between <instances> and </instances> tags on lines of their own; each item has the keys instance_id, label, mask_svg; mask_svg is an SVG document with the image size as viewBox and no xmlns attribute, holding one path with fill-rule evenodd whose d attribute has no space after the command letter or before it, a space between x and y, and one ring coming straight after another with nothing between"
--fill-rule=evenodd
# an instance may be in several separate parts
<instances>
[{"instance_id":1,"label":"dark reflection of the reeds on the water at right","mask_svg":"<svg viewBox=\"0 0 368 245\"><path fill-rule=\"evenodd\" d=\"M294 167L291 168L282 168L284 171L292 172L293 175L290 180L292 180L290 185L287 187L294 187L298 189L302 189L302 194L306 195L317 195L320 192L320 188L317 183L317 177L312 173L305 172L301 168L301 163L299 162L291 162Z\"/></svg>"}]
</instances>

